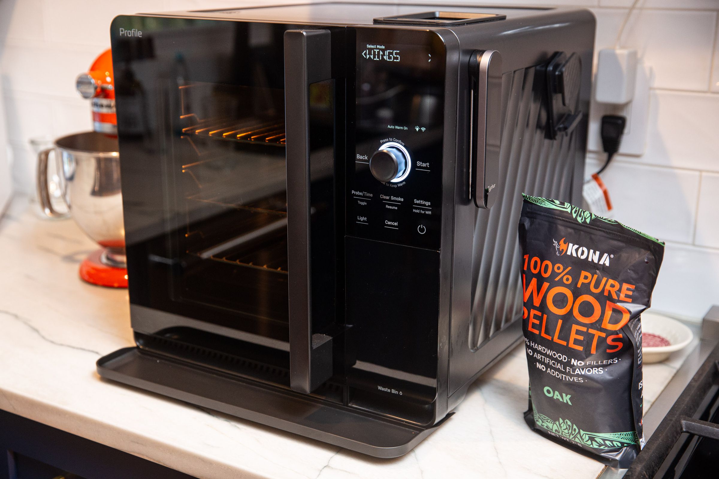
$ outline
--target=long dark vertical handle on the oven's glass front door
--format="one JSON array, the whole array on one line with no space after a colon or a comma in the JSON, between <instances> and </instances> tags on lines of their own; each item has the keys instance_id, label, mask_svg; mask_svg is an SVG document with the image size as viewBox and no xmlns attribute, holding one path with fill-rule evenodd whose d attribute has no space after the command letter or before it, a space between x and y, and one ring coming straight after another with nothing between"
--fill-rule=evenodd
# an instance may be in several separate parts
<instances>
[{"instance_id":1,"label":"long dark vertical handle on the oven's glass front door","mask_svg":"<svg viewBox=\"0 0 719 479\"><path fill-rule=\"evenodd\" d=\"M313 334L309 85L331 79L330 32L285 32L285 154L290 387L311 393L332 374L332 340Z\"/></svg>"}]
</instances>

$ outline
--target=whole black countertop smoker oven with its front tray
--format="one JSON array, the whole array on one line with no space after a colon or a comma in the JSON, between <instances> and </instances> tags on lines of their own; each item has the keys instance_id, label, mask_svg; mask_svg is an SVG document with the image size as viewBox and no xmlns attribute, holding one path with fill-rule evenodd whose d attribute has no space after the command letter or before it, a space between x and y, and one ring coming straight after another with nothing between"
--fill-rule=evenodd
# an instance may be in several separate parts
<instances>
[{"instance_id":1,"label":"whole black countertop smoker oven with its front tray","mask_svg":"<svg viewBox=\"0 0 719 479\"><path fill-rule=\"evenodd\" d=\"M100 375L411 450L521 338L521 192L580 201L594 32L447 5L114 19L137 347Z\"/></svg>"}]
</instances>

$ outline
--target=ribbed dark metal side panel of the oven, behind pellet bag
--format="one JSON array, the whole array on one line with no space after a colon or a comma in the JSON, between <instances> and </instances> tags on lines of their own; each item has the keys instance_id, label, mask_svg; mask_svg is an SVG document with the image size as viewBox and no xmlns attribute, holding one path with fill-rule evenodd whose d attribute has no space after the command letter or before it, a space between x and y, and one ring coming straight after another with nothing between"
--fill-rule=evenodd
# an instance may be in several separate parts
<instances>
[{"instance_id":1,"label":"ribbed dark metal side panel of the oven, behind pellet bag","mask_svg":"<svg viewBox=\"0 0 719 479\"><path fill-rule=\"evenodd\" d=\"M472 350L521 317L521 254L517 243L521 193L570 201L577 154L574 135L545 138L544 81L535 68L507 74L503 83L503 197L491 210L477 212L468 338Z\"/></svg>"}]
</instances>

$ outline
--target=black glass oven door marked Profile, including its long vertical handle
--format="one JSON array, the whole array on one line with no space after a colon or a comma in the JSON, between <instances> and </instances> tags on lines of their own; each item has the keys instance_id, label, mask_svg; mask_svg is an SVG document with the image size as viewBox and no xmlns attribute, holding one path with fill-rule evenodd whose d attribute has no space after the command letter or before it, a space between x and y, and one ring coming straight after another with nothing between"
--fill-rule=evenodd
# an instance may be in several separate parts
<instances>
[{"instance_id":1,"label":"black glass oven door marked Profile, including its long vertical handle","mask_svg":"<svg viewBox=\"0 0 719 479\"><path fill-rule=\"evenodd\" d=\"M127 36L133 31L142 34ZM331 358L342 331L336 226L344 208L335 192L344 78L328 65L343 31L113 22L129 296L141 347L306 393L339 368ZM323 71L314 67L318 52Z\"/></svg>"}]
</instances>

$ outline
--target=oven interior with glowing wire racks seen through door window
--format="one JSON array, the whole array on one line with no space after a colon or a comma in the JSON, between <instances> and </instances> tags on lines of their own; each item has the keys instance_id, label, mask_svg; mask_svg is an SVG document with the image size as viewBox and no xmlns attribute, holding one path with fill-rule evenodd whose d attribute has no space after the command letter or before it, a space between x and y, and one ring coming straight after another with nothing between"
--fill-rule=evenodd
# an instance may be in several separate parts
<instances>
[{"instance_id":1,"label":"oven interior with glowing wire racks seen through door window","mask_svg":"<svg viewBox=\"0 0 719 479\"><path fill-rule=\"evenodd\" d=\"M286 322L284 91L188 82L177 93L174 299Z\"/></svg>"}]
</instances>

